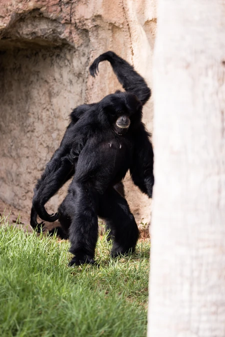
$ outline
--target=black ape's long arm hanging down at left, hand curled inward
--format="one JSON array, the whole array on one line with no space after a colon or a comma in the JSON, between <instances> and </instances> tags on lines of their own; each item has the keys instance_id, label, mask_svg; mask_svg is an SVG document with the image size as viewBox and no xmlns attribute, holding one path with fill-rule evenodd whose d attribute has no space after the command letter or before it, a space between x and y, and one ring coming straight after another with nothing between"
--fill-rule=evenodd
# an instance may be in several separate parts
<instances>
[{"instance_id":1,"label":"black ape's long arm hanging down at left, hand curled inward","mask_svg":"<svg viewBox=\"0 0 225 337\"><path fill-rule=\"evenodd\" d=\"M59 218L59 213L52 215L45 210L45 203L74 174L76 163L87 139L91 137L91 115L94 117L95 109L85 118L80 118L76 123L69 125L59 148L54 152L47 163L41 178L37 181L32 199L32 206L39 217L45 221L53 222ZM88 122L87 122L88 120ZM33 215L33 212L31 212Z\"/></svg>"}]
</instances>

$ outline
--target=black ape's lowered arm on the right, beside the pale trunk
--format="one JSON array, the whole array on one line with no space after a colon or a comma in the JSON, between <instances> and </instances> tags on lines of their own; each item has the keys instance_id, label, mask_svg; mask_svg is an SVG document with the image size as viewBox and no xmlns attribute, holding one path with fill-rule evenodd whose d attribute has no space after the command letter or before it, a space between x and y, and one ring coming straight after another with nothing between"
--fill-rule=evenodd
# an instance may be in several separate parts
<instances>
[{"instance_id":1,"label":"black ape's lowered arm on the right, beside the pale trunk","mask_svg":"<svg viewBox=\"0 0 225 337\"><path fill-rule=\"evenodd\" d=\"M149 140L149 134L143 123L138 127L134 135L134 148L130 165L131 178L140 190L152 197L153 176L153 149Z\"/></svg>"}]
</instances>

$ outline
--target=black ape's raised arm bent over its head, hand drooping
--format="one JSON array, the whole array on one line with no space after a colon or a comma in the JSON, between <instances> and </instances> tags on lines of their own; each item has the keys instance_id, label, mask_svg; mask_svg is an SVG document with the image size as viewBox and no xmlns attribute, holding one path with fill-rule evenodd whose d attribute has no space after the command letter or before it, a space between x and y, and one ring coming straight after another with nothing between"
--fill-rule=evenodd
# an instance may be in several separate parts
<instances>
[{"instance_id":1,"label":"black ape's raised arm bent over its head, hand drooping","mask_svg":"<svg viewBox=\"0 0 225 337\"><path fill-rule=\"evenodd\" d=\"M107 51L95 58L93 63L89 67L91 76L97 75L98 64L101 61L109 61L111 67L122 87L125 91L134 93L142 104L145 104L149 99L151 91L147 86L145 80L140 76L127 61L116 55L113 51Z\"/></svg>"}]
</instances>

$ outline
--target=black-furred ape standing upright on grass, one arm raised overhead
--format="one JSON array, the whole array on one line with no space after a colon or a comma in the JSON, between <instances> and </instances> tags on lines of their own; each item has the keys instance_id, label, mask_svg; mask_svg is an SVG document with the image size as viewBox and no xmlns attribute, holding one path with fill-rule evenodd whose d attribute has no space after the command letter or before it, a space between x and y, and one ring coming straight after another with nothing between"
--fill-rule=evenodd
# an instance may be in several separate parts
<instances>
[{"instance_id":1,"label":"black-furred ape standing upright on grass, one arm raised overhead","mask_svg":"<svg viewBox=\"0 0 225 337\"><path fill-rule=\"evenodd\" d=\"M109 60L119 81L130 92L116 92L72 111L71 122L36 184L32 201L32 225L37 224L36 213L46 221L54 221L60 214L59 222L65 235L69 233L70 251L74 254L70 265L94 262L97 216L105 218L111 229L112 256L134 250L138 238L136 222L126 200L113 188L128 169L133 182L149 197L152 195L153 151L141 122L142 104L150 90L133 67L111 51L93 62L91 74L104 59ZM118 126L121 117L130 121L128 128ZM72 175L58 213L49 215L44 204Z\"/></svg>"}]
</instances>

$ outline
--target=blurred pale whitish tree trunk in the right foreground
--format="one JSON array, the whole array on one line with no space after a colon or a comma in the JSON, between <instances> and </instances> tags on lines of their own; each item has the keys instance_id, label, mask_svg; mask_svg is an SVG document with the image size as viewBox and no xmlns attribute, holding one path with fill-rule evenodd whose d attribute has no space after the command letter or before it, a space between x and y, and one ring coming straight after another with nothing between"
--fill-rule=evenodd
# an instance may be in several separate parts
<instances>
[{"instance_id":1,"label":"blurred pale whitish tree trunk in the right foreground","mask_svg":"<svg viewBox=\"0 0 225 337\"><path fill-rule=\"evenodd\" d=\"M225 336L225 1L159 0L148 336Z\"/></svg>"}]
</instances>

